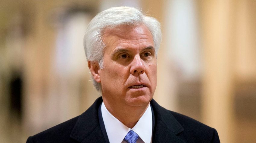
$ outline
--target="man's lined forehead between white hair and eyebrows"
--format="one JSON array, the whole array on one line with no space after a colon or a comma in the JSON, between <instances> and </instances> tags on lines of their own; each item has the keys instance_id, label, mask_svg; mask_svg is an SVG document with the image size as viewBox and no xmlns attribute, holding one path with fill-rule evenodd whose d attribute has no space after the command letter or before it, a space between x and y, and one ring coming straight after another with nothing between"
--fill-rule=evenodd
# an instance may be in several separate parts
<instances>
[{"instance_id":1,"label":"man's lined forehead between white hair and eyebrows","mask_svg":"<svg viewBox=\"0 0 256 143\"><path fill-rule=\"evenodd\" d=\"M127 48L154 46L152 35L144 24L137 26L121 25L106 29L103 34L103 42L107 49L114 49L118 46Z\"/></svg>"}]
</instances>

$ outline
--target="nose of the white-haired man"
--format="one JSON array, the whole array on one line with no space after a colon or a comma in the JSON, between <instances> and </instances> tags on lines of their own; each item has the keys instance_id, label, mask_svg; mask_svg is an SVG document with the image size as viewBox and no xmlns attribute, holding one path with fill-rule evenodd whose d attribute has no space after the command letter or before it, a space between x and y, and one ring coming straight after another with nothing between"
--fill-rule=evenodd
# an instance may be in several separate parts
<instances>
[{"instance_id":1,"label":"nose of the white-haired man","mask_svg":"<svg viewBox=\"0 0 256 143\"><path fill-rule=\"evenodd\" d=\"M132 63L131 63L131 68L130 68L130 72L131 74L143 74L145 72L145 65L144 65L144 61L140 58L140 56L135 56Z\"/></svg>"}]
</instances>

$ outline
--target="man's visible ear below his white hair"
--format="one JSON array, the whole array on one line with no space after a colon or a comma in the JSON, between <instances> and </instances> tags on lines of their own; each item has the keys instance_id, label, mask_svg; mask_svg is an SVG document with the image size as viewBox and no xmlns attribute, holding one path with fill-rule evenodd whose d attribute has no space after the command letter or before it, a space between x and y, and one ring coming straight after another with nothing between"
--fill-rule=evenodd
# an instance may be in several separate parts
<instances>
[{"instance_id":1,"label":"man's visible ear below his white hair","mask_svg":"<svg viewBox=\"0 0 256 143\"><path fill-rule=\"evenodd\" d=\"M91 71L91 74L92 74L92 77L94 78L94 80L97 83L100 83L101 82L101 77L99 74L100 66L99 66L98 62L88 61L88 67Z\"/></svg>"}]
</instances>

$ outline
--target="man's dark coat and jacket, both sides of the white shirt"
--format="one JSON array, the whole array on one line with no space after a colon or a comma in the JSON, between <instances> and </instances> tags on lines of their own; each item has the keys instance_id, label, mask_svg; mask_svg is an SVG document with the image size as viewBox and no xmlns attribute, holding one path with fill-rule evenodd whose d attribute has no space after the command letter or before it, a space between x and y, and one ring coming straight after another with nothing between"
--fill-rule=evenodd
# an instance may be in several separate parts
<instances>
[{"instance_id":1,"label":"man's dark coat and jacket, both sides of the white shirt","mask_svg":"<svg viewBox=\"0 0 256 143\"><path fill-rule=\"evenodd\" d=\"M98 119L98 98L83 114L58 124L48 130L30 136L27 143L92 143L105 142ZM153 99L151 106L155 114L155 129L152 142L156 143L219 143L215 129L192 118L169 111Z\"/></svg>"}]
</instances>

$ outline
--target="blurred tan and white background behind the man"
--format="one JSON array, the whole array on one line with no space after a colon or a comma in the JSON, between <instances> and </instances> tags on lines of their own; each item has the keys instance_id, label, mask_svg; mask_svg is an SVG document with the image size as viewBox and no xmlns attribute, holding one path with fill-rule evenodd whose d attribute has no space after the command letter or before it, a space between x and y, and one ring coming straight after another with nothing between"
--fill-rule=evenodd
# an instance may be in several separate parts
<instances>
[{"instance_id":1,"label":"blurred tan and white background behind the man","mask_svg":"<svg viewBox=\"0 0 256 143\"><path fill-rule=\"evenodd\" d=\"M116 6L162 24L160 105L214 127L223 143L256 142L255 0L0 0L1 143L26 142L99 97L83 34Z\"/></svg>"}]
</instances>

